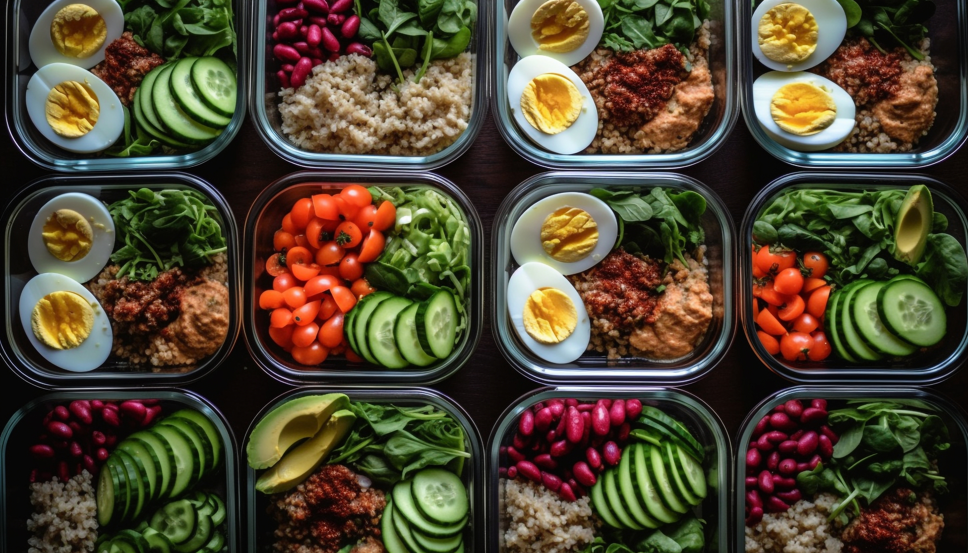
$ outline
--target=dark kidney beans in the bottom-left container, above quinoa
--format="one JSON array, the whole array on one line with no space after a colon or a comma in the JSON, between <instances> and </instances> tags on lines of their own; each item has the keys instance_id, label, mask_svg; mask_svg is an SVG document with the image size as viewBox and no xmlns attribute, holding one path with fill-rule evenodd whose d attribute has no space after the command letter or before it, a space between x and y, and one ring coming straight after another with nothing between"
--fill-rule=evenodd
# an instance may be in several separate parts
<instances>
[{"instance_id":1,"label":"dark kidney beans in the bottom-left container, above quinoa","mask_svg":"<svg viewBox=\"0 0 968 553\"><path fill-rule=\"evenodd\" d=\"M64 481L82 470L97 475L119 439L150 426L161 413L157 399L78 399L54 407L44 415L37 443L29 447L35 461L30 481L52 476Z\"/></svg>"}]
</instances>

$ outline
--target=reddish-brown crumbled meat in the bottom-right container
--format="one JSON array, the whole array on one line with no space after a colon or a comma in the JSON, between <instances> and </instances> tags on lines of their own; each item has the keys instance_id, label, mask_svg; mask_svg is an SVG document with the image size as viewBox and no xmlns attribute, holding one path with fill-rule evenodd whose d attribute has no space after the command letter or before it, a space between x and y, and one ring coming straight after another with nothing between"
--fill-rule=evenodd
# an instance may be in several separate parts
<instances>
[{"instance_id":1,"label":"reddish-brown crumbled meat in the bottom-right container","mask_svg":"<svg viewBox=\"0 0 968 553\"><path fill-rule=\"evenodd\" d=\"M840 539L845 553L934 553L944 528L930 494L895 488L862 508Z\"/></svg>"}]
</instances>

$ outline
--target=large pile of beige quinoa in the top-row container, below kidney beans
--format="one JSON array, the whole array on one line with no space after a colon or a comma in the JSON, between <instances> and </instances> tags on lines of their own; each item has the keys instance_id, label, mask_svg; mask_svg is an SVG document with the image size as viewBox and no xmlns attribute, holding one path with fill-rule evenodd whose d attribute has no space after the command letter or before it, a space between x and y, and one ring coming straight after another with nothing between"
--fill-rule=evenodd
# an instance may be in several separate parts
<instances>
[{"instance_id":1,"label":"large pile of beige quinoa in the top-row container, below kidney beans","mask_svg":"<svg viewBox=\"0 0 968 553\"><path fill-rule=\"evenodd\" d=\"M426 156L468 128L474 56L431 62L420 82L413 70L394 91L394 76L359 54L313 68L299 88L280 93L283 134L314 152Z\"/></svg>"}]
</instances>

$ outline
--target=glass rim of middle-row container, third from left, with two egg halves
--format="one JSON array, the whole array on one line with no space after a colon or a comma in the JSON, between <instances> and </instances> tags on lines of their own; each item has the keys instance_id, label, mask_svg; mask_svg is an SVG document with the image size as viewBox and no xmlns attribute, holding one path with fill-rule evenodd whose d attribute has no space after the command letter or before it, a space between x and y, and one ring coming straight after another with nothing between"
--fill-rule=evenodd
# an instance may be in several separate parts
<instances>
[{"instance_id":1,"label":"glass rim of middle-row container, third from left, with two egg halves","mask_svg":"<svg viewBox=\"0 0 968 553\"><path fill-rule=\"evenodd\" d=\"M661 362L644 361L649 366L643 368L620 368L612 369L607 366L596 367L592 371L585 368L554 368L551 363L533 362L529 360L529 353L520 347L513 339L504 339L512 336L515 330L511 328L507 321L507 298L506 283L510 276L505 270L506 262L510 259L510 253L504 252L502 243L507 238L509 230L500 224L509 213L520 204L522 199L534 191L561 184L578 185L595 183L595 186L609 186L610 180L638 181L621 182L624 186L663 186L675 187L680 190L690 190L699 193L706 199L707 213L716 218L722 231L722 303L723 318L722 329L710 345L710 351L705 356L692 360L689 365L681 369L663 368ZM553 182L546 182L553 181ZM733 256L735 250L733 246L733 220L729 216L725 204L719 196L705 184L692 177L673 172L631 172L631 171L548 171L536 174L524 180L507 194L501 201L494 218L495 228L492 230L491 251L492 251L492 302L491 302L491 332L494 334L495 342L500 353L504 355L508 363L511 364L519 373L539 384L566 385L566 384L651 384L651 385L684 385L690 384L705 377L722 360L723 356L733 342L736 330L736 308L734 307L734 296L736 295L734 276L733 276ZM603 363L604 364L604 363ZM648 381L648 382L646 382Z\"/></svg>"}]
</instances>

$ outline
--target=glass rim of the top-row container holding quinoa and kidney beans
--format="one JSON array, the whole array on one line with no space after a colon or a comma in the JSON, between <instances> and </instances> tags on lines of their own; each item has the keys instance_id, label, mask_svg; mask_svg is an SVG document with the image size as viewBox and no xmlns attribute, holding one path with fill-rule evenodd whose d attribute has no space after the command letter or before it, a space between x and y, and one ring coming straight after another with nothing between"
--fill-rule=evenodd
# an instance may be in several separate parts
<instances>
[{"instance_id":1,"label":"glass rim of the top-row container holding quinoa and kidney beans","mask_svg":"<svg viewBox=\"0 0 968 553\"><path fill-rule=\"evenodd\" d=\"M248 96L249 109L259 138L280 158L304 169L383 169L394 171L423 171L439 169L464 155L473 144L475 138L484 127L487 118L488 96L491 90L489 81L489 48L490 32L487 25L490 20L491 2L489 0L475 0L477 2L477 21L475 22L474 38L477 41L476 58L474 60L473 83L468 128L461 133L457 140L443 150L429 156L391 156L376 154L335 154L318 153L303 150L290 143L281 132L272 128L266 112L265 55L264 49L255 37L268 36L266 30L266 2L252 2L250 18L252 24L247 28L254 37L249 46L252 77L249 79ZM273 100L272 102L275 102Z\"/></svg>"}]
</instances>

